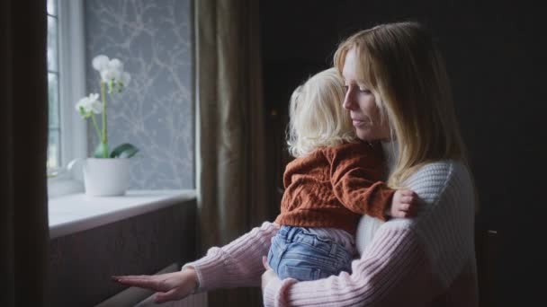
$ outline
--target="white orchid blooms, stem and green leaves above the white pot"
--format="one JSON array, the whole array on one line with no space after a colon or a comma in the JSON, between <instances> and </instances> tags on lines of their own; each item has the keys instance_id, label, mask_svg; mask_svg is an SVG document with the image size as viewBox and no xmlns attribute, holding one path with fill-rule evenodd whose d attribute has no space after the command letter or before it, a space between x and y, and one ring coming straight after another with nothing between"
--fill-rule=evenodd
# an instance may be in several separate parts
<instances>
[{"instance_id":1,"label":"white orchid blooms, stem and green leaves above the white pot","mask_svg":"<svg viewBox=\"0 0 547 307\"><path fill-rule=\"evenodd\" d=\"M101 75L101 95L98 93L90 93L80 99L76 103L76 110L80 113L82 118L89 119L93 123L95 132L99 138L99 145L95 148L95 158L130 158L135 153L139 152L139 149L129 143L124 143L116 146L112 152L109 151L108 145L108 127L106 123L106 94L114 94L122 92L123 89L130 83L131 76L129 73L123 71L123 63L117 58L108 58L100 55L94 57L92 65L95 70ZM99 97L101 101L99 101ZM96 115L102 114L101 124L99 128Z\"/></svg>"}]
</instances>

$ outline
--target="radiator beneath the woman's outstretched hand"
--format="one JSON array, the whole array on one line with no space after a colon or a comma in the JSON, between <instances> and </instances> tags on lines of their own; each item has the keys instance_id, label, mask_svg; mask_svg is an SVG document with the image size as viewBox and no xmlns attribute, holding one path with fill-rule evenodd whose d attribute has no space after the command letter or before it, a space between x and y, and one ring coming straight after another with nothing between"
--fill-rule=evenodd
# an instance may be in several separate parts
<instances>
[{"instance_id":1,"label":"radiator beneath the woman's outstretched hand","mask_svg":"<svg viewBox=\"0 0 547 307\"><path fill-rule=\"evenodd\" d=\"M178 270L177 264L172 264L156 274L171 273ZM154 303L154 292L138 287L129 287L119 294L95 305L95 307L207 307L207 293L190 295L184 300L167 303Z\"/></svg>"}]
</instances>

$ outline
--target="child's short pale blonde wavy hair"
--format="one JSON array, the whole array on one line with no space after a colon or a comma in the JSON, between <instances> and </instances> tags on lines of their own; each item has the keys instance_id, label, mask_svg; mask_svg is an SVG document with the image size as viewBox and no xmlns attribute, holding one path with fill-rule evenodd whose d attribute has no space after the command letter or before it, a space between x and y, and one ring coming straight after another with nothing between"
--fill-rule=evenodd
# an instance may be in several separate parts
<instances>
[{"instance_id":1,"label":"child's short pale blonde wavy hair","mask_svg":"<svg viewBox=\"0 0 547 307\"><path fill-rule=\"evenodd\" d=\"M311 76L292 92L287 133L292 156L358 141L349 112L342 107L344 97L344 83L336 68Z\"/></svg>"}]
</instances>

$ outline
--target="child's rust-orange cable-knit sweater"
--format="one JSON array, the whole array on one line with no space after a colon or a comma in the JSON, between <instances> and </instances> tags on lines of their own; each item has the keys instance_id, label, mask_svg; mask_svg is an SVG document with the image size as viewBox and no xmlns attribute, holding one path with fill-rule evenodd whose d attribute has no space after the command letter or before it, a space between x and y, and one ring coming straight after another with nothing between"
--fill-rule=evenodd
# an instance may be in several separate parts
<instances>
[{"instance_id":1,"label":"child's rust-orange cable-knit sweater","mask_svg":"<svg viewBox=\"0 0 547 307\"><path fill-rule=\"evenodd\" d=\"M323 147L287 164L277 224L332 227L354 234L361 215L385 220L395 190L379 143Z\"/></svg>"}]
</instances>

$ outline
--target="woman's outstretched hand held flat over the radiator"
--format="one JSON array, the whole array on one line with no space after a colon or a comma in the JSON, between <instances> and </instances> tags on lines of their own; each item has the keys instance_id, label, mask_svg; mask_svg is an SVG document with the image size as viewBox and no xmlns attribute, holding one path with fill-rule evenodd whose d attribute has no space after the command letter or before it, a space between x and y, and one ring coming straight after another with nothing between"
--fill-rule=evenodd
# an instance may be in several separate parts
<instances>
[{"instance_id":1,"label":"woman's outstretched hand held flat over the radiator","mask_svg":"<svg viewBox=\"0 0 547 307\"><path fill-rule=\"evenodd\" d=\"M112 276L112 279L123 285L156 291L157 294L154 298L156 303L181 300L193 294L196 285L198 285L198 276L193 268L152 276Z\"/></svg>"}]
</instances>

